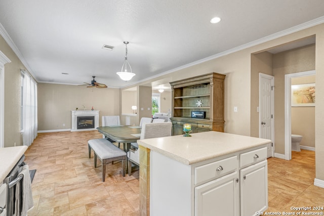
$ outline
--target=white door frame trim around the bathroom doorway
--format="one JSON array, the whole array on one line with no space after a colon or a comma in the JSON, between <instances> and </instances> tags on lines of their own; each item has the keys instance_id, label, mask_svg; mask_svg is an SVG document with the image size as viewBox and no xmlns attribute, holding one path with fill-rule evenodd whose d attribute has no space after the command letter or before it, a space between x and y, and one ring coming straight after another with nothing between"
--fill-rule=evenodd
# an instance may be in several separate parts
<instances>
[{"instance_id":1,"label":"white door frame trim around the bathroom doorway","mask_svg":"<svg viewBox=\"0 0 324 216\"><path fill-rule=\"evenodd\" d=\"M291 85L293 77L303 77L303 76L311 76L315 75L315 70L291 73L285 75L285 159L292 159L292 128L291 128L291 106L292 106L292 98L291 98Z\"/></svg>"}]
</instances>

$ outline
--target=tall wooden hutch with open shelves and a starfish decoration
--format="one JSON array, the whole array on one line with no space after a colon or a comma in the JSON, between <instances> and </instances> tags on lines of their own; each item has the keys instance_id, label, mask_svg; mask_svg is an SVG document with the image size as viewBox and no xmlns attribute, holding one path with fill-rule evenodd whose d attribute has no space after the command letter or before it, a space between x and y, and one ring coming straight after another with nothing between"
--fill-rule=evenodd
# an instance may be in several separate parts
<instances>
[{"instance_id":1,"label":"tall wooden hutch with open shelves and a starfish decoration","mask_svg":"<svg viewBox=\"0 0 324 216\"><path fill-rule=\"evenodd\" d=\"M172 135L183 134L183 124L191 133L224 132L224 74L208 73L170 82L172 88Z\"/></svg>"}]
</instances>

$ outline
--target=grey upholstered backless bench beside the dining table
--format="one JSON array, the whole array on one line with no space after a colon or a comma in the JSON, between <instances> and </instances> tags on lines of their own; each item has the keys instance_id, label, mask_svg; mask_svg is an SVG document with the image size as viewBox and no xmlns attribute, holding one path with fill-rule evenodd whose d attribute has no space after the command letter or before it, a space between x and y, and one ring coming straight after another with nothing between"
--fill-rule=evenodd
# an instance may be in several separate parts
<instances>
[{"instance_id":1,"label":"grey upholstered backless bench beside the dining table","mask_svg":"<svg viewBox=\"0 0 324 216\"><path fill-rule=\"evenodd\" d=\"M88 141L89 158L91 158L91 149L94 151L95 168L97 167L97 157L102 163L102 181L106 177L106 165L114 160L121 160L123 166L123 177L126 170L126 152L119 149L107 139L93 139Z\"/></svg>"}]
</instances>

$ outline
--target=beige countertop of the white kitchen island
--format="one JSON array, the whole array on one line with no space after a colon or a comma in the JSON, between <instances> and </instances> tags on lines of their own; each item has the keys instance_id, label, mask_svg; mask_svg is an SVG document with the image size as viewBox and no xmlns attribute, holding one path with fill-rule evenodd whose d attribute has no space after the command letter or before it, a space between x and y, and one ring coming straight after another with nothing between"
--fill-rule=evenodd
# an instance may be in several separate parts
<instances>
[{"instance_id":1,"label":"beige countertop of the white kitchen island","mask_svg":"<svg viewBox=\"0 0 324 216\"><path fill-rule=\"evenodd\" d=\"M271 143L271 140L221 132L203 132L138 140L138 144L173 158L184 164L193 164L222 155Z\"/></svg>"}]
</instances>

